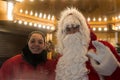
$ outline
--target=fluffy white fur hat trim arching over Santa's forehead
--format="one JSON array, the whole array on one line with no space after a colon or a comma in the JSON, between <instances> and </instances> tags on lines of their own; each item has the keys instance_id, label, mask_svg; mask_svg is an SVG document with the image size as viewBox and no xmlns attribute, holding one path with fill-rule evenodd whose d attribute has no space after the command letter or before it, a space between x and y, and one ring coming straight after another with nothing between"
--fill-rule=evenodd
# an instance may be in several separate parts
<instances>
[{"instance_id":1,"label":"fluffy white fur hat trim arching over Santa's forehead","mask_svg":"<svg viewBox=\"0 0 120 80\"><path fill-rule=\"evenodd\" d=\"M64 37L65 35L65 28L67 25L69 24L76 24L79 25L80 24L80 29L85 30L85 32L87 32L89 35L89 27L86 23L86 19L85 17L82 15L82 13L80 11L78 11L76 8L71 7L71 8L67 8L64 11L61 12L61 17L60 20L58 22L58 36ZM63 36L61 36L63 35Z\"/></svg>"}]
</instances>

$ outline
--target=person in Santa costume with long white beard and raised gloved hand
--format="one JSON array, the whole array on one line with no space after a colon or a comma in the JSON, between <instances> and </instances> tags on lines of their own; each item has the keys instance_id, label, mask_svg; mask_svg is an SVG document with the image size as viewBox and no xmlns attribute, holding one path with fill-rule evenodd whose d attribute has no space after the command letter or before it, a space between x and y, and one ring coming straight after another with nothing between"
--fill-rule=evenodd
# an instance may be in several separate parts
<instances>
[{"instance_id":1,"label":"person in Santa costume with long white beard and raised gloved hand","mask_svg":"<svg viewBox=\"0 0 120 80\"><path fill-rule=\"evenodd\" d=\"M57 31L56 80L120 80L120 56L108 42L99 41L85 17L75 8L61 14Z\"/></svg>"}]
</instances>

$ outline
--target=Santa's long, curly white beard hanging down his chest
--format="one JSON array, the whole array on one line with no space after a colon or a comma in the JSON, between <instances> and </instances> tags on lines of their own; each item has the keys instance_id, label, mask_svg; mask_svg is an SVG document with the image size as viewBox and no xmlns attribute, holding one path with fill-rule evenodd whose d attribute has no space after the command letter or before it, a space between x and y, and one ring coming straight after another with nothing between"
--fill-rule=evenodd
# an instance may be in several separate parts
<instances>
[{"instance_id":1,"label":"Santa's long, curly white beard hanging down his chest","mask_svg":"<svg viewBox=\"0 0 120 80\"><path fill-rule=\"evenodd\" d=\"M84 45L79 36L79 33L75 33L64 38L63 56L56 67L56 80L88 80L85 64L88 45Z\"/></svg>"}]
</instances>

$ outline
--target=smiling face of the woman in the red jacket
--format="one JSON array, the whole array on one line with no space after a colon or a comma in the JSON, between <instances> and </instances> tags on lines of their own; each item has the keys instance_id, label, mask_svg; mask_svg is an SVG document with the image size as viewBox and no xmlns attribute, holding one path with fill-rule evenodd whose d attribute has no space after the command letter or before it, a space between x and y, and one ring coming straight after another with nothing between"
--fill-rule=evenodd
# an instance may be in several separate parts
<instances>
[{"instance_id":1,"label":"smiling face of the woman in the red jacket","mask_svg":"<svg viewBox=\"0 0 120 80\"><path fill-rule=\"evenodd\" d=\"M28 41L28 47L33 54L40 54L45 47L42 35L38 33L32 34Z\"/></svg>"}]
</instances>

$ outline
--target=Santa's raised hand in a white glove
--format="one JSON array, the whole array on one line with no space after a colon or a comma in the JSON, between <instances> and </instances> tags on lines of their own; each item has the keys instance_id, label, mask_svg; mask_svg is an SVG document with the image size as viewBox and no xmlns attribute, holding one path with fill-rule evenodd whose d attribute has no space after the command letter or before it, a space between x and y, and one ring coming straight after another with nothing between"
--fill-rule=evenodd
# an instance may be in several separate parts
<instances>
[{"instance_id":1,"label":"Santa's raised hand in a white glove","mask_svg":"<svg viewBox=\"0 0 120 80\"><path fill-rule=\"evenodd\" d=\"M93 41L92 43L96 48L96 52L93 50L88 51L88 56L91 57L92 66L100 75L111 75L119 66L119 62L111 50L104 44L98 41Z\"/></svg>"}]
</instances>

